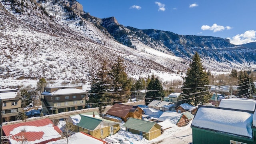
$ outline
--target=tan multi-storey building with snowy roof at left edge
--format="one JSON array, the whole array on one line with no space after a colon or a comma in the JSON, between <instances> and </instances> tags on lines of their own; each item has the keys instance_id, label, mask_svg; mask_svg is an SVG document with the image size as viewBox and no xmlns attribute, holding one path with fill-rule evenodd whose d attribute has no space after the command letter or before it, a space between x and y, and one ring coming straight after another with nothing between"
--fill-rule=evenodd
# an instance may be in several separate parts
<instances>
[{"instance_id":1,"label":"tan multi-storey building with snowy roof at left edge","mask_svg":"<svg viewBox=\"0 0 256 144\"><path fill-rule=\"evenodd\" d=\"M3 122L19 120L21 113L21 96L16 89L1 89L0 99L2 100Z\"/></svg>"}]
</instances>

